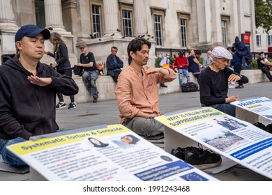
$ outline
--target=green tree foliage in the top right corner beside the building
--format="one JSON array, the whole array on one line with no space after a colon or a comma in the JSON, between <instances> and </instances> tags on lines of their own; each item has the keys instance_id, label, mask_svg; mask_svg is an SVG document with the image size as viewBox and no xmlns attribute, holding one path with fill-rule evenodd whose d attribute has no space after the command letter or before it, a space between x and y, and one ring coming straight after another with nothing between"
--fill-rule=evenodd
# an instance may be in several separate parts
<instances>
[{"instance_id":1,"label":"green tree foliage in the top right corner beside the building","mask_svg":"<svg viewBox=\"0 0 272 195\"><path fill-rule=\"evenodd\" d=\"M266 33L272 29L272 0L255 0L255 23Z\"/></svg>"}]
</instances>

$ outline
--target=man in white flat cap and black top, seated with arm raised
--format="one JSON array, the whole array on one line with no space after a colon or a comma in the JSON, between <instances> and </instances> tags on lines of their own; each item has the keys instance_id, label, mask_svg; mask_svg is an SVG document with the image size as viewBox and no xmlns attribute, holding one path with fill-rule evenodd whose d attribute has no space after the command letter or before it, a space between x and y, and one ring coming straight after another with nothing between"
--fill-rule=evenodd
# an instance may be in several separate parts
<instances>
[{"instance_id":1,"label":"man in white flat cap and black top, seated with arm raised","mask_svg":"<svg viewBox=\"0 0 272 195\"><path fill-rule=\"evenodd\" d=\"M228 97L228 83L241 81L248 83L248 78L227 68L227 60L232 54L224 47L215 47L212 51L212 63L199 76L199 93L202 107L213 107L235 117L235 106L229 104L239 100L239 95Z\"/></svg>"}]
</instances>

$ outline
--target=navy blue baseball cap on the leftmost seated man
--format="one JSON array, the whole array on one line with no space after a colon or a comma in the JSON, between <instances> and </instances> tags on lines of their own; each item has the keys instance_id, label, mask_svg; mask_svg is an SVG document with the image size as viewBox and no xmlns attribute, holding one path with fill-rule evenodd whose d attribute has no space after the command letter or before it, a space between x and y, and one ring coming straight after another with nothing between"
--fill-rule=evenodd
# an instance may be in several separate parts
<instances>
[{"instance_id":1,"label":"navy blue baseball cap on the leftmost seated man","mask_svg":"<svg viewBox=\"0 0 272 195\"><path fill-rule=\"evenodd\" d=\"M45 40L49 39L51 36L48 29L40 29L34 24L27 24L21 26L21 28L17 31L15 35L15 42L21 40L24 36L34 37L37 36L39 33L43 34L43 38L45 38Z\"/></svg>"}]
</instances>

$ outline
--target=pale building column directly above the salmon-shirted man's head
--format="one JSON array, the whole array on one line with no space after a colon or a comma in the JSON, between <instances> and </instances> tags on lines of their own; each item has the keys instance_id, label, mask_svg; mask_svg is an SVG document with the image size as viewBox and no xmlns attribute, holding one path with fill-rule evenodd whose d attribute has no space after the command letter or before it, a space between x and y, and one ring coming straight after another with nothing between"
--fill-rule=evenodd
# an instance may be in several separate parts
<instances>
[{"instance_id":1,"label":"pale building column directly above the salmon-shirted man's head","mask_svg":"<svg viewBox=\"0 0 272 195\"><path fill-rule=\"evenodd\" d=\"M135 36L144 35L147 31L145 0L133 1L135 16Z\"/></svg>"}]
</instances>

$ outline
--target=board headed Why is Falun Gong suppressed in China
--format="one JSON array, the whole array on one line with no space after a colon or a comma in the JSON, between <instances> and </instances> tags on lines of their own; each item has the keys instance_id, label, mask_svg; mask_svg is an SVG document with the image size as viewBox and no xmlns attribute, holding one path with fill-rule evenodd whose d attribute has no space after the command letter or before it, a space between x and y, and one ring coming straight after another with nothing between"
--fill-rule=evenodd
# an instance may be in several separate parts
<instances>
[{"instance_id":1,"label":"board headed Why is Falun Gong suppressed in China","mask_svg":"<svg viewBox=\"0 0 272 195\"><path fill-rule=\"evenodd\" d=\"M270 102L262 100L267 104ZM206 148L272 178L272 134L255 125L211 107L176 111L156 120Z\"/></svg>"}]
</instances>

